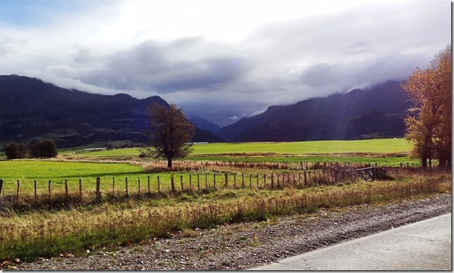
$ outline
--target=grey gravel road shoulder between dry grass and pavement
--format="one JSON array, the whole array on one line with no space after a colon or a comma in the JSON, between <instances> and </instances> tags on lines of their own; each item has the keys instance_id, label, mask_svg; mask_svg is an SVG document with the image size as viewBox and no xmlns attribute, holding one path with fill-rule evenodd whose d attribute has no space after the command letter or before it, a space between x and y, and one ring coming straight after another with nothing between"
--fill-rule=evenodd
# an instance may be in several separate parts
<instances>
[{"instance_id":1,"label":"grey gravel road shoulder between dry grass and pavement","mask_svg":"<svg viewBox=\"0 0 454 273\"><path fill-rule=\"evenodd\" d=\"M451 211L439 194L386 205L355 205L267 222L226 224L178 232L133 246L100 248L85 256L18 263L22 270L241 270L374 234ZM6 269L6 268L5 268Z\"/></svg>"}]
</instances>

